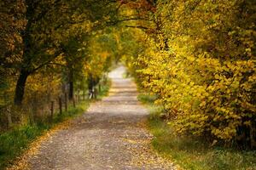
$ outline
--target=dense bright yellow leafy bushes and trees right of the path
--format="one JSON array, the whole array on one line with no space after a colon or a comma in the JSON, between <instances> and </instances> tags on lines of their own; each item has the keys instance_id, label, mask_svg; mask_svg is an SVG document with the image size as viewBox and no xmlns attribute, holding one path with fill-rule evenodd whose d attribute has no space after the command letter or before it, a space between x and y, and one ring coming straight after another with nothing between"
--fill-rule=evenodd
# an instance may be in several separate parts
<instances>
[{"instance_id":1,"label":"dense bright yellow leafy bushes and trees right of the path","mask_svg":"<svg viewBox=\"0 0 256 170\"><path fill-rule=\"evenodd\" d=\"M160 0L148 11L144 50L127 60L177 133L255 147L255 5Z\"/></svg>"}]
</instances>

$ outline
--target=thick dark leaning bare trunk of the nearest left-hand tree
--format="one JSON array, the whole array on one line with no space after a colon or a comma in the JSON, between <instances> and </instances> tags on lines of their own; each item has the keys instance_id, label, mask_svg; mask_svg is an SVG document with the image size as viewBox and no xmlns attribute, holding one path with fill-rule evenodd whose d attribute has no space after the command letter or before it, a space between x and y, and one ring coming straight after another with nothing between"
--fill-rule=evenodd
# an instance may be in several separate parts
<instances>
[{"instance_id":1,"label":"thick dark leaning bare trunk of the nearest left-hand tree","mask_svg":"<svg viewBox=\"0 0 256 170\"><path fill-rule=\"evenodd\" d=\"M16 83L15 88L15 105L21 105L24 97L24 91L26 86L26 79L30 75L30 73L24 69L21 69L20 76Z\"/></svg>"}]
</instances>

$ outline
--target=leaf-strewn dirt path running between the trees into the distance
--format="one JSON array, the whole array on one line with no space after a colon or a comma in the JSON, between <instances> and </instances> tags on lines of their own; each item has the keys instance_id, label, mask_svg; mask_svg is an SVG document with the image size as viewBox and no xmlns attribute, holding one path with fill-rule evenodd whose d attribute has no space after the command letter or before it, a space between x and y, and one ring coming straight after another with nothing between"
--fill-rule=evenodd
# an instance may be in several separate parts
<instances>
[{"instance_id":1,"label":"leaf-strewn dirt path running between the trees into the distance","mask_svg":"<svg viewBox=\"0 0 256 170\"><path fill-rule=\"evenodd\" d=\"M152 136L143 127L148 111L124 72L122 66L112 71L110 95L41 145L29 160L32 169L176 169L150 149Z\"/></svg>"}]
</instances>

